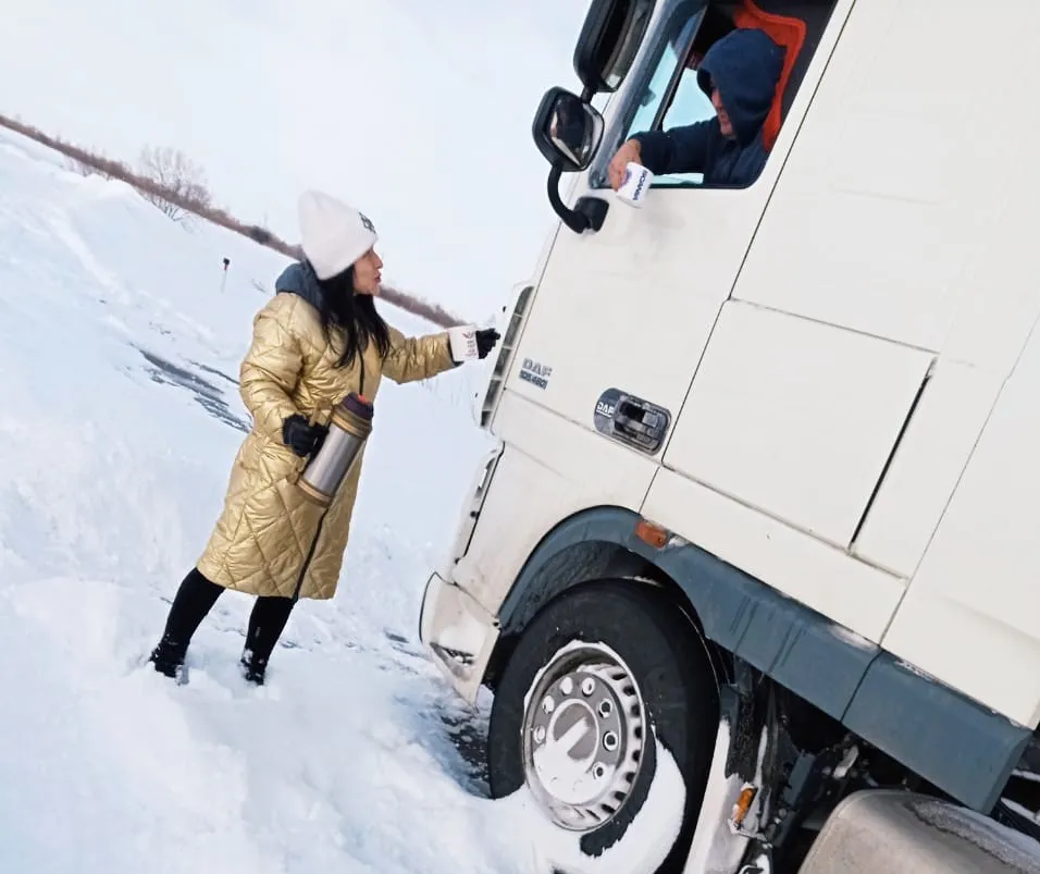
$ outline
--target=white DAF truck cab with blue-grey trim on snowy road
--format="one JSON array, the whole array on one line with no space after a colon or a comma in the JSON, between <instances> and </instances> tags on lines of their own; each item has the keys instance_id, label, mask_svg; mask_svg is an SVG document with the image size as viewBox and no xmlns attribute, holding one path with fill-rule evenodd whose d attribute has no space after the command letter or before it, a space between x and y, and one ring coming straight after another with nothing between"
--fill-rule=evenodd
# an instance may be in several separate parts
<instances>
[{"instance_id":1,"label":"white DAF truck cab with blue-grey trim on snowy road","mask_svg":"<svg viewBox=\"0 0 1040 874\"><path fill-rule=\"evenodd\" d=\"M741 28L783 58L760 171L621 200L622 143L718 126L697 66ZM1036 0L592 0L420 623L494 693L493 793L590 858L659 750L660 872L797 871L857 790L1040 834L1038 45Z\"/></svg>"}]
</instances>

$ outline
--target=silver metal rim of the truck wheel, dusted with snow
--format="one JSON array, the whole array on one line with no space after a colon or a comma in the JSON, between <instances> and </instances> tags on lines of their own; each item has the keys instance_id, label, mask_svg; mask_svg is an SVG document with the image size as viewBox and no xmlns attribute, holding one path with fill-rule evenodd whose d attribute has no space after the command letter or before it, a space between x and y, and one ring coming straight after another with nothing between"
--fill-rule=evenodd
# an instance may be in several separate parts
<instances>
[{"instance_id":1,"label":"silver metal rim of the truck wheel, dusted with snow","mask_svg":"<svg viewBox=\"0 0 1040 874\"><path fill-rule=\"evenodd\" d=\"M602 643L557 652L528 694L524 776L559 826L596 828L624 804L642 765L645 709L631 672Z\"/></svg>"}]
</instances>

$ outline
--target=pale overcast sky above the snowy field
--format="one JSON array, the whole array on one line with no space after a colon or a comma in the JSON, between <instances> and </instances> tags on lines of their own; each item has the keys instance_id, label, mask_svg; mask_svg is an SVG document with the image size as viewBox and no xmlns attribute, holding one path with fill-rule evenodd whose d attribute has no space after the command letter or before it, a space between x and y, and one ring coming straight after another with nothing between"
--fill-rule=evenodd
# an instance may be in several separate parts
<instances>
[{"instance_id":1,"label":"pale overcast sky above the snowy field","mask_svg":"<svg viewBox=\"0 0 1040 874\"><path fill-rule=\"evenodd\" d=\"M387 279L470 318L527 279L553 216L531 140L577 89L587 0L34 0L0 27L0 112L131 161L184 149L243 221L364 210Z\"/></svg>"}]
</instances>

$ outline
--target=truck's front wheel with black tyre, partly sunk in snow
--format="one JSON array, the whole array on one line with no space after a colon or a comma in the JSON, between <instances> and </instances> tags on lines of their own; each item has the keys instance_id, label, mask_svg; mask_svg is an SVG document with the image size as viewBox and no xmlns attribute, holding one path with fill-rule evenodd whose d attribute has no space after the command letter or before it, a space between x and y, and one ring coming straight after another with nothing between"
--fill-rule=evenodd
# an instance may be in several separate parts
<instances>
[{"instance_id":1,"label":"truck's front wheel with black tyre, partly sunk in snow","mask_svg":"<svg viewBox=\"0 0 1040 874\"><path fill-rule=\"evenodd\" d=\"M560 749L580 721L584 736L571 733ZM655 730L686 788L682 829L663 874L681 870L704 796L718 730L711 664L680 608L648 586L575 587L531 620L503 672L487 739L492 796L527 783L558 827L580 834L583 853L601 855L646 800Z\"/></svg>"}]
</instances>

